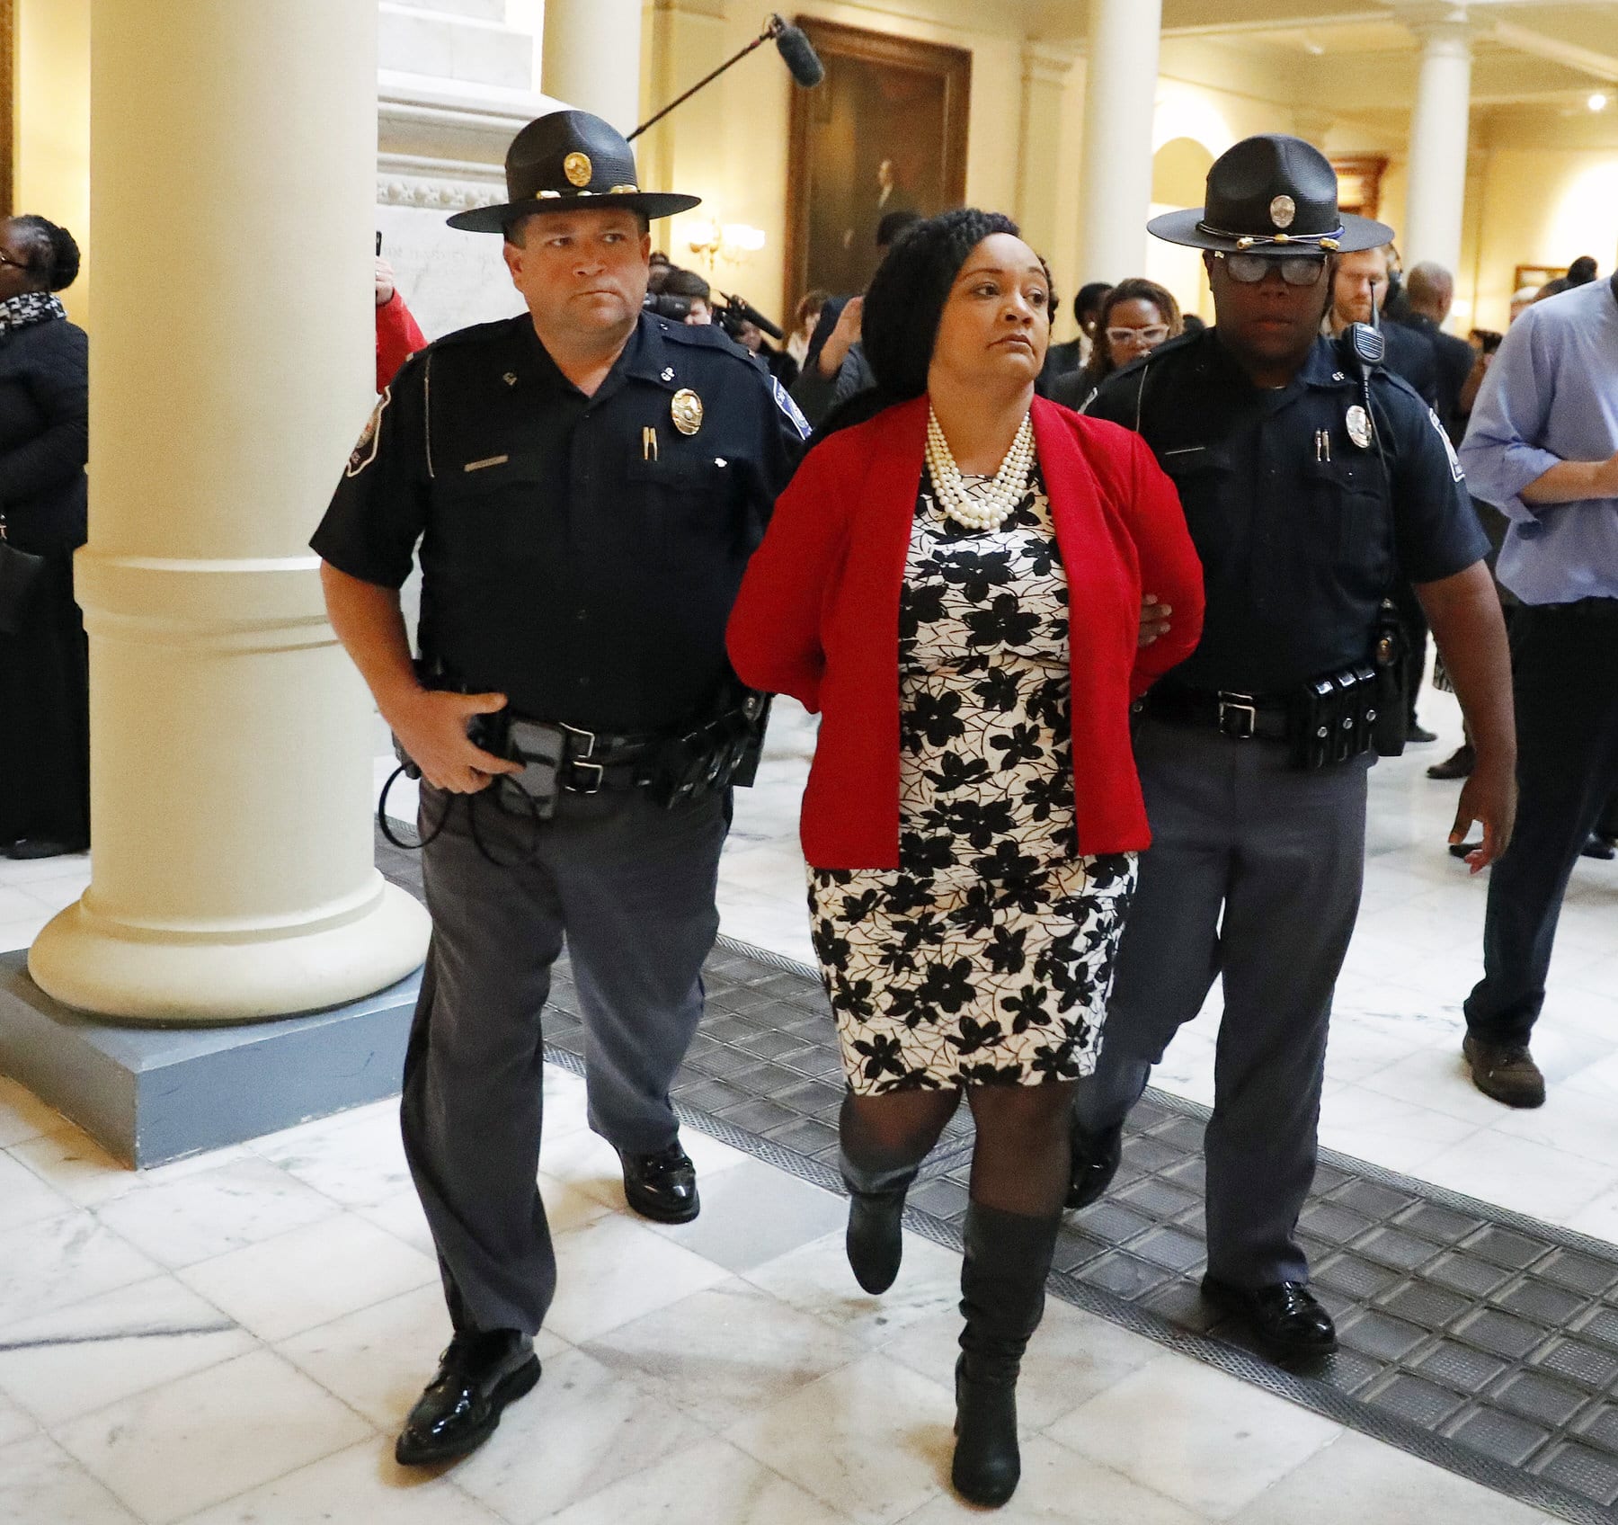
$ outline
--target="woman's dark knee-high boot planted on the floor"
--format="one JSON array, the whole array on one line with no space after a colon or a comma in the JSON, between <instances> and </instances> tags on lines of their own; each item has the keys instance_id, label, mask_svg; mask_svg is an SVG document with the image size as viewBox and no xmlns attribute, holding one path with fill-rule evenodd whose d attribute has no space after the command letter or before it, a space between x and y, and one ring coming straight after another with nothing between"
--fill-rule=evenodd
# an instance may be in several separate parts
<instances>
[{"instance_id":1,"label":"woman's dark knee-high boot planted on the floor","mask_svg":"<svg viewBox=\"0 0 1618 1525\"><path fill-rule=\"evenodd\" d=\"M1061 1216L1024 1217L972 1203L961 1261L961 1358L955 1365L955 1491L997 1507L1016 1493L1016 1379L1045 1311Z\"/></svg>"}]
</instances>

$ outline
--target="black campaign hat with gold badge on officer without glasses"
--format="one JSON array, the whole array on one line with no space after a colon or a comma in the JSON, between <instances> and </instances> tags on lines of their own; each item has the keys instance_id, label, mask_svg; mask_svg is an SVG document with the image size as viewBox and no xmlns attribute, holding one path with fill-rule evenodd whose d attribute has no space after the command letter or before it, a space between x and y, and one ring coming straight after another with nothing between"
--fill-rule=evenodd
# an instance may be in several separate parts
<instances>
[{"instance_id":1,"label":"black campaign hat with gold badge on officer without glasses","mask_svg":"<svg viewBox=\"0 0 1618 1525\"><path fill-rule=\"evenodd\" d=\"M673 217L702 204L699 196L642 191L634 175L634 152L623 133L589 112L550 112L511 139L506 196L510 199L497 207L456 212L450 227L503 233L532 212L628 207L647 217Z\"/></svg>"}]
</instances>

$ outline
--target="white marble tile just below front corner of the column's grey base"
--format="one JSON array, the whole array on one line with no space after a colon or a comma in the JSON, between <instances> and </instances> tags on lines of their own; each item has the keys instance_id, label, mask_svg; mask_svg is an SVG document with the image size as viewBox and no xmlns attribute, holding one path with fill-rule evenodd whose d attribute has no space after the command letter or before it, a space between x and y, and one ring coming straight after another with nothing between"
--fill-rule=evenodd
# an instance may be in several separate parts
<instances>
[{"instance_id":1,"label":"white marble tile just below front corner of the column's grey base","mask_svg":"<svg viewBox=\"0 0 1618 1525\"><path fill-rule=\"evenodd\" d=\"M99 1216L154 1260L178 1269L340 1211L330 1196L267 1159L251 1158L126 1192Z\"/></svg>"}]
</instances>

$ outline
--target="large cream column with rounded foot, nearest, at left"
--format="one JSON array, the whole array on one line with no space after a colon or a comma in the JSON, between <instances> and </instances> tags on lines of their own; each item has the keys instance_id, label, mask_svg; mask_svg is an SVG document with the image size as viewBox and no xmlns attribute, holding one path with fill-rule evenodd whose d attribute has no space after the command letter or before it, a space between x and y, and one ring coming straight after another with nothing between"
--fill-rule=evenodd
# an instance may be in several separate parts
<instances>
[{"instance_id":1,"label":"large cream column with rounded foot, nearest, at left","mask_svg":"<svg viewBox=\"0 0 1618 1525\"><path fill-rule=\"evenodd\" d=\"M375 0L94 0L84 898L34 979L139 1022L408 975L369 696L307 549L372 400Z\"/></svg>"}]
</instances>

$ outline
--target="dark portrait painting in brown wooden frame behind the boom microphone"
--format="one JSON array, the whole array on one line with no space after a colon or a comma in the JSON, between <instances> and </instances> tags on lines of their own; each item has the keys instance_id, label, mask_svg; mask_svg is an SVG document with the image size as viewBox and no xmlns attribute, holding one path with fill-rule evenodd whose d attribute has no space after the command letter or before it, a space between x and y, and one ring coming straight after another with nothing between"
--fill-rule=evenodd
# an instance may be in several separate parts
<instances>
[{"instance_id":1,"label":"dark portrait painting in brown wooden frame behind the boom microphone","mask_svg":"<svg viewBox=\"0 0 1618 1525\"><path fill-rule=\"evenodd\" d=\"M924 217L966 196L972 55L799 16L825 84L793 91L786 206L791 312L806 291L864 291L877 269L877 227L890 212Z\"/></svg>"}]
</instances>

